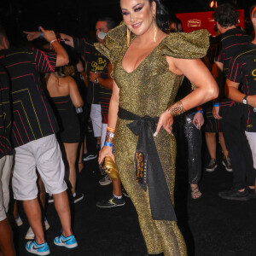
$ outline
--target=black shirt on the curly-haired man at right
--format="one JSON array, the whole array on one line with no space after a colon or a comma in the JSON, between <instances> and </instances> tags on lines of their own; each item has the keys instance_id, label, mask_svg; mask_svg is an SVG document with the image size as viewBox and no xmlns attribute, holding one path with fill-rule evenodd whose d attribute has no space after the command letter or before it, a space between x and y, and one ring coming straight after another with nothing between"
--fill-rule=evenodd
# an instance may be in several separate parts
<instances>
[{"instance_id":1,"label":"black shirt on the curly-haired man at right","mask_svg":"<svg viewBox=\"0 0 256 256\"><path fill-rule=\"evenodd\" d=\"M223 63L223 74L225 78L229 73L230 61L232 58L241 51L241 48L244 45L251 41L252 39L238 28L232 28L221 35L221 43L218 46L215 61ZM224 88L222 90L224 90ZM221 91L220 95L224 96L224 91ZM220 105L221 107L231 107L235 105L235 102L224 96L224 98L220 100Z\"/></svg>"}]
</instances>

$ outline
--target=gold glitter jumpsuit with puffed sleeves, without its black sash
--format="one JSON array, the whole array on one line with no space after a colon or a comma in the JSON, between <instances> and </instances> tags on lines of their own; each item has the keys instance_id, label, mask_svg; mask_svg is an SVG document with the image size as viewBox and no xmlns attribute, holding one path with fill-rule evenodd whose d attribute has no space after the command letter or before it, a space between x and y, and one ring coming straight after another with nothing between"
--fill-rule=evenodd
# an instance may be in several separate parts
<instances>
[{"instance_id":1,"label":"gold glitter jumpsuit with puffed sleeves, without its black sash","mask_svg":"<svg viewBox=\"0 0 256 256\"><path fill-rule=\"evenodd\" d=\"M122 59L127 49L126 26L122 24L108 32L106 44L95 44L113 65L112 77L119 87L119 107L143 117L160 116L172 105L183 76L169 71L166 55L183 59L201 58L207 53L208 33L172 33L131 73L125 72ZM187 255L183 236L175 221L153 220L148 189L145 192L135 177L134 155L137 136L126 126L129 120L118 119L114 137L114 157L119 177L137 209L139 224L148 253ZM176 140L163 128L154 137L166 183L174 202ZM173 203L174 204L174 203Z\"/></svg>"}]
</instances>

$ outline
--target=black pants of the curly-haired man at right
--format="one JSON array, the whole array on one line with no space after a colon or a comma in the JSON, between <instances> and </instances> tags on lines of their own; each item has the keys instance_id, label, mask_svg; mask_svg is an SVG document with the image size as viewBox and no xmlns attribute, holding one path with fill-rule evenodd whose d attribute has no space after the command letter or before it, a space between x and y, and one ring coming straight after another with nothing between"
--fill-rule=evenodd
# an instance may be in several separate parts
<instances>
[{"instance_id":1,"label":"black pants of the curly-haired man at right","mask_svg":"<svg viewBox=\"0 0 256 256\"><path fill-rule=\"evenodd\" d=\"M253 155L245 135L244 106L236 104L232 107L220 108L223 117L223 134L233 169L233 187L244 189L253 186L255 169Z\"/></svg>"}]
</instances>

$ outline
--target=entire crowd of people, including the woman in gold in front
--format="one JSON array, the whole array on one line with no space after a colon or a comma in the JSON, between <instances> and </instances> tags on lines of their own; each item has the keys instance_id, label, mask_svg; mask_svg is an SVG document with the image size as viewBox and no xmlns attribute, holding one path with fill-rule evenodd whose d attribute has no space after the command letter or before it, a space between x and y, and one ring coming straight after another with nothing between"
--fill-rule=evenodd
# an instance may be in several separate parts
<instances>
[{"instance_id":1,"label":"entire crowd of people, including the woman in gold in front","mask_svg":"<svg viewBox=\"0 0 256 256\"><path fill-rule=\"evenodd\" d=\"M175 136L187 140L193 199L202 195L203 135L210 155L206 171L218 167L218 135L221 162L233 173L232 188L218 195L256 198L256 38L236 27L236 9L218 6L218 34L209 38L203 30L183 33L160 0L121 0L120 8L119 26L98 19L96 44L40 26L25 32L27 40L44 38L47 44L15 49L0 27L0 255L15 255L9 189L16 224L22 224L16 201L30 224L28 253L50 253L46 201L54 202L61 221L55 245L79 246L70 203L83 203L79 172L96 158L99 170L109 173L102 172L99 183L113 186L96 207L122 207L129 196L148 255L187 255L173 207ZM250 17L255 32L256 5ZM95 152L87 147L90 129Z\"/></svg>"}]
</instances>

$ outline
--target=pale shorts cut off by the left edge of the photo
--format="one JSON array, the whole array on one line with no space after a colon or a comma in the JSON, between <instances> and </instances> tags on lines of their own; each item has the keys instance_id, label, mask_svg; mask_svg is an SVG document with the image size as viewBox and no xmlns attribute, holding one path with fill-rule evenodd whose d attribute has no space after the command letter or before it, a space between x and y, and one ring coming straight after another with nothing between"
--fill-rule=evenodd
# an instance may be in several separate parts
<instances>
[{"instance_id":1,"label":"pale shorts cut off by the left edge of the photo","mask_svg":"<svg viewBox=\"0 0 256 256\"><path fill-rule=\"evenodd\" d=\"M6 218L9 207L9 177L13 166L13 156L0 159L0 221Z\"/></svg>"}]
</instances>

